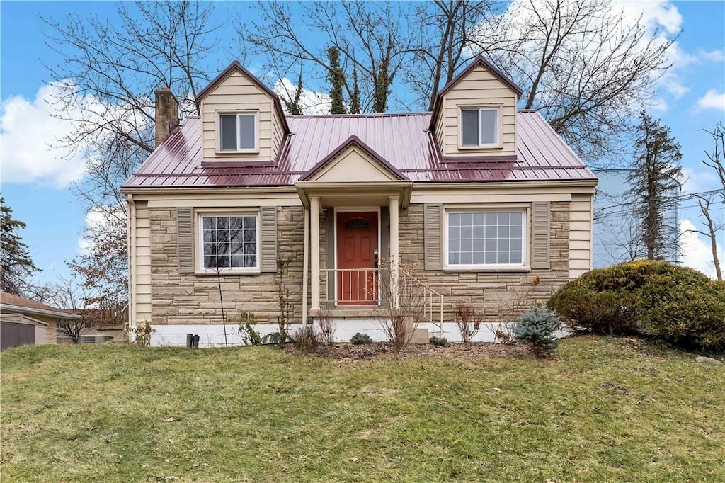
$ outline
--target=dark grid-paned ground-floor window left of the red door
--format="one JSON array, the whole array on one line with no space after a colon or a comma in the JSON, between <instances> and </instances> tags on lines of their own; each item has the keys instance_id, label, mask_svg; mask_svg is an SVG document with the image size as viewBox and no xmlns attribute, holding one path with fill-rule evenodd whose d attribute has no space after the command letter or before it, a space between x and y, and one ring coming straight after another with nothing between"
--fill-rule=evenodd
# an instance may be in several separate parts
<instances>
[{"instance_id":1,"label":"dark grid-paned ground-floor window left of the red door","mask_svg":"<svg viewBox=\"0 0 725 483\"><path fill-rule=\"evenodd\" d=\"M259 268L257 214L202 215L202 263L207 268Z\"/></svg>"}]
</instances>

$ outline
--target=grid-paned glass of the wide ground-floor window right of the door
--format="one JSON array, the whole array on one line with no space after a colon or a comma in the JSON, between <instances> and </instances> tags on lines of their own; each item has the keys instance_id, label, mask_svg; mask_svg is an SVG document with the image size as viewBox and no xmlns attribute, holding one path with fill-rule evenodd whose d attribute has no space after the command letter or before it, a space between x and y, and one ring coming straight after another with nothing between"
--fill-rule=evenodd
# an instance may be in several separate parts
<instances>
[{"instance_id":1,"label":"grid-paned glass of the wide ground-floor window right of the door","mask_svg":"<svg viewBox=\"0 0 725 483\"><path fill-rule=\"evenodd\" d=\"M523 210L447 212L447 265L524 265Z\"/></svg>"}]
</instances>

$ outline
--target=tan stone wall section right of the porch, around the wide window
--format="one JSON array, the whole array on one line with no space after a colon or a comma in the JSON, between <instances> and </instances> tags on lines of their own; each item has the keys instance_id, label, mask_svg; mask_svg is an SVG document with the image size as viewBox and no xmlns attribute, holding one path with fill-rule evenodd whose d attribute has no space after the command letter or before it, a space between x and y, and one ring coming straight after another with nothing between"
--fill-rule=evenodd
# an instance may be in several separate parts
<instances>
[{"instance_id":1,"label":"tan stone wall section right of the porch, around the wide window","mask_svg":"<svg viewBox=\"0 0 725 483\"><path fill-rule=\"evenodd\" d=\"M399 217L402 267L444 296L444 317L454 320L454 307L466 303L481 310L486 322L523 310L534 300L548 299L568 281L569 203L551 203L550 270L528 273L426 271L423 257L423 205L410 205ZM534 278L540 283L532 284Z\"/></svg>"}]
</instances>

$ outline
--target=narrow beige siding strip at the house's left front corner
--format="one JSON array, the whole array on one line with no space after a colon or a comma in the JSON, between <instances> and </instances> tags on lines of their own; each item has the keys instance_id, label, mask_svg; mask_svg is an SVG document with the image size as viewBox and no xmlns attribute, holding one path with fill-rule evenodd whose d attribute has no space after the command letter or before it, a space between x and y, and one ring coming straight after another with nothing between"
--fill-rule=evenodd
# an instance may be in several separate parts
<instances>
[{"instance_id":1,"label":"narrow beige siding strip at the house's left front corner","mask_svg":"<svg viewBox=\"0 0 725 483\"><path fill-rule=\"evenodd\" d=\"M136 321L151 320L151 228L146 203L136 204L136 260L132 265L136 280Z\"/></svg>"}]
</instances>

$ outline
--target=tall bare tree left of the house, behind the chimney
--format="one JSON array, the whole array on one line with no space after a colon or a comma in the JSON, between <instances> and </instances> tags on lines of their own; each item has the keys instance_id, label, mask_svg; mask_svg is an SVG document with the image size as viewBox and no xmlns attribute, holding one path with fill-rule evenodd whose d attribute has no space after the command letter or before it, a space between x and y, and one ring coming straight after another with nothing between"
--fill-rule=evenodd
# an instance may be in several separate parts
<instances>
[{"instance_id":1,"label":"tall bare tree left of the house, behind the chimney","mask_svg":"<svg viewBox=\"0 0 725 483\"><path fill-rule=\"evenodd\" d=\"M196 93L217 49L211 14L212 4L139 1L118 4L117 25L96 15L45 19L48 45L60 57L49 66L61 86L56 115L74 128L59 144L86 155L86 177L74 190L102 220L86 231L88 255L71 263L86 286L125 293L128 214L120 185L154 150L154 91L171 88L181 117L199 114Z\"/></svg>"}]
</instances>

